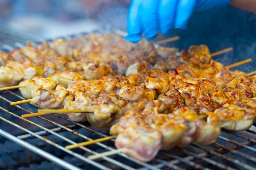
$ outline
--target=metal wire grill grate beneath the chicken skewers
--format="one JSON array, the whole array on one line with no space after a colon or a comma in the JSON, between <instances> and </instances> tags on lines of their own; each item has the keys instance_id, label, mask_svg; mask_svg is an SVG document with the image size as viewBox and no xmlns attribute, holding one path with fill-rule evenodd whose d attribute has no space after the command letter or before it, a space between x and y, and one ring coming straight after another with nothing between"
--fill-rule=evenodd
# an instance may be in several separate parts
<instances>
[{"instance_id":1,"label":"metal wire grill grate beneath the chicken skewers","mask_svg":"<svg viewBox=\"0 0 256 170\"><path fill-rule=\"evenodd\" d=\"M96 33L104 33L104 32L109 32L109 30L105 30L105 29L102 29L102 28L99 28L97 29L96 31L93 31L93 32L96 32ZM120 30L117 30L117 29L111 29L111 32L114 32L116 34L119 34L119 35L125 35L125 33L123 31L120 31ZM83 33L80 33L80 34L77 34L77 35L70 35L70 36L67 36L67 37L62 37L62 38L70 38L70 37L74 37L74 36L79 36L79 35L82 35L82 34L88 34L88 33L92 33L92 32L83 32ZM51 41L51 40L50 40ZM41 42L32 42L33 44L39 44ZM23 46L23 44L20 44L20 43L16 43L15 44L16 47L21 47ZM3 46L3 50L5 51L10 51L14 46L9 46L9 45L4 45ZM17 91L17 90L16 90ZM25 99L24 97L20 96L19 94L15 93L14 91L10 91L10 90L6 90L5 93L9 93L13 96L16 96L20 99ZM1 100L4 100L6 101L7 103L10 103L10 102L13 102L13 101L10 101L8 100L7 98L3 97L2 95L0 95L0 99ZM20 105L14 105L15 107L17 107L18 109L20 110L23 110L27 113L32 113L31 111L27 110L26 108L24 107L21 107ZM40 108L38 105L34 105L36 108ZM94 134L97 134L101 137L106 137L106 135L94 130L94 129L91 129L89 126L89 123L78 123L78 122L72 122L70 119L68 119L67 117L64 117L60 114L53 114L55 116L58 116L59 118L61 119L64 119L68 122L70 122L70 125L68 126L63 126L57 122L54 122L50 119L47 119L43 116L37 116L37 118L41 119L42 121L47 121L53 125L56 126L56 128L53 128L53 129L48 129L46 127L43 127L33 121L30 121L26 118L22 118L20 117L19 115L5 109L4 107L0 106L0 109L18 119L21 119L27 123L30 123L32 125L35 125L37 126L38 128L42 129L42 131L39 131L39 132L32 132L24 127L21 127L17 124L15 124L14 122L11 122L3 117L0 116L0 119L4 122L7 122L8 124L12 125L12 126L15 126L16 128L19 128L20 130L26 132L27 134L25 135L21 135L21 136L13 136L11 135L10 133L6 132L6 131L3 131L2 129L0 129L0 135L4 136L5 138L15 142L15 143L18 143L19 145L33 151L34 153L36 154L39 154L41 155L42 157L58 164L59 166L61 167L64 167L65 169L69 169L69 170L81 170L81 168L79 167L76 167L42 149L40 149L39 147L36 147L28 142L26 142L25 140L29 140L29 139L33 139L33 138L38 138L52 146L55 146L56 148L68 153L69 155L71 156L74 156L78 159L80 159L81 161L84 161L88 164L91 164L99 169L103 169L103 170L110 170L111 168L110 167L106 167L102 164L100 164L97 160L90 160L88 158L86 158L85 156L83 155L80 155L72 150L68 150L66 149L64 146L61 146L53 141L50 141L46 138L44 138L43 136L47 136L47 135L54 135L58 138L60 138L61 140L64 140L70 144L76 144L76 142L60 135L59 133L60 132L70 132L72 135L75 135L75 136L79 136L80 138L84 139L84 140L87 140L87 141L90 141L92 140L91 138L81 134L81 133L78 133L76 131L74 131L74 129L79 129L79 128L85 128L86 130L88 130L90 133L94 133ZM88 125L88 126L87 126ZM256 126L255 124L253 126ZM178 155L175 155L175 154L170 154L170 153L167 153L165 151L161 151L160 154L166 156L166 158L168 159L172 159L172 160L164 160L164 159L159 159L159 158L154 158L152 162L155 162L154 164L151 164L151 163L145 163L145 162L141 162L137 159L134 159L124 153L117 153L118 156L121 156L125 159L128 159L129 161L132 161L134 162L135 164L139 165L140 168L139 170L147 170L147 169L151 169L151 170L160 170L160 169L176 169L176 170L183 170L184 168L182 166L186 165L186 166L189 166L189 167L192 167L192 169L196 168L196 169L202 169L202 170L209 170L209 168L206 168L204 166L202 166L201 164L197 163L197 161L203 161L205 163L208 163L210 165L213 165L215 167L218 167L220 169L226 169L226 170L234 170L233 167L230 167L231 165L232 166L235 166L235 167L242 167L244 169L249 169L249 170L256 170L256 148L254 148L253 146L256 146L256 132L255 131L252 131L252 130L247 130L247 132L251 135L251 136L254 136L255 138L249 138L245 135L241 135L239 133L235 133L235 132L229 132L229 131L226 131L226 130L222 130L222 132L225 132L225 133L228 133L232 136L234 136L235 138L237 139L243 139L245 140L246 142L237 142L235 140L230 140L230 139L227 139L226 137L224 136L219 136L218 138L220 140L223 140L223 141L226 141L227 143L230 143L230 145L228 146L224 146L220 143L213 143L211 144L211 146L214 146L216 149L209 149L207 147L204 147L204 146L201 146L197 143L194 143L192 142L190 144L190 147L191 148L194 148L194 149L197 149L197 150L200 150L200 153L196 153L194 151L192 151L190 148L183 148L182 151L183 153L186 154L186 156L184 157L180 157ZM114 142L114 140L112 140ZM98 143L95 143L98 147L101 147L101 148L104 148L105 151L109 151L109 150L114 150L115 148L112 148L106 144L103 144L102 142L98 142ZM80 149L84 150L85 152L88 152L88 153L91 153L91 154L97 154L98 152L94 151L94 150L91 150L87 147L84 147L84 146L80 146L79 147ZM250 151L253 151L255 152L255 155L254 156L251 156L251 155L248 155L247 153L244 153L242 151L239 151L238 149L241 149L241 148L245 148L245 149L248 149ZM254 162L254 166L251 166L251 165L248 165L246 163L244 163L243 161L241 160L238 160L238 159L234 159L230 156L227 156L225 155L225 153L233 153L235 155L238 155L240 157L243 157L245 159L249 159L251 160L252 162ZM226 160L228 162L230 162L231 164L230 165L226 165L224 163L220 163L220 162L217 162L213 159L211 159L213 156L217 156L223 160ZM115 164L116 166L120 167L120 169L126 169L126 170L135 170L134 167L131 167L125 163L122 163L122 162L119 162L115 159L112 159L110 157L102 157L102 159L104 159L105 161L107 162L110 162L111 164Z\"/></svg>"}]
</instances>

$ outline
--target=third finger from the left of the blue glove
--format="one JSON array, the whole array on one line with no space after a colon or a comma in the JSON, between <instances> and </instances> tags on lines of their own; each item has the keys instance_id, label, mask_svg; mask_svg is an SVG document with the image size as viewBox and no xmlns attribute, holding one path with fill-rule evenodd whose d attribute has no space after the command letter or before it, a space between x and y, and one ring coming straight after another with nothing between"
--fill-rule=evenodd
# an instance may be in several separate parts
<instances>
[{"instance_id":1,"label":"third finger from the left of the blue glove","mask_svg":"<svg viewBox=\"0 0 256 170\"><path fill-rule=\"evenodd\" d=\"M177 0L161 0L159 4L159 30L164 36L169 36L174 25Z\"/></svg>"}]
</instances>

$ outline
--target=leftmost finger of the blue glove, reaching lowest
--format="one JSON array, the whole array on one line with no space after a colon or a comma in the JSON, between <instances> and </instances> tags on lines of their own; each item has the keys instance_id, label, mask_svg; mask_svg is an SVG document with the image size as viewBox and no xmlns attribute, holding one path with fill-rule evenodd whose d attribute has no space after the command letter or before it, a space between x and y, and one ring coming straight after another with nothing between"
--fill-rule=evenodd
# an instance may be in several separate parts
<instances>
[{"instance_id":1,"label":"leftmost finger of the blue glove, reaching lowest","mask_svg":"<svg viewBox=\"0 0 256 170\"><path fill-rule=\"evenodd\" d=\"M133 0L131 2L129 11L128 11L128 18L127 18L127 31L128 35L125 37L128 41L137 42L139 41L142 36L142 30L140 26L140 15L141 12L139 11L139 7L142 4L142 0Z\"/></svg>"}]
</instances>

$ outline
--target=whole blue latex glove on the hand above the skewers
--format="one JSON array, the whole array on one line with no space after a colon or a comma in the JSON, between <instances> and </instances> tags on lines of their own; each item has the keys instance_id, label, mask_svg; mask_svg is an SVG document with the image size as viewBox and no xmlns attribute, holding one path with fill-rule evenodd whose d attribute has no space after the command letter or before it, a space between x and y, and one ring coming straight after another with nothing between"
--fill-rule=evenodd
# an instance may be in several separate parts
<instances>
[{"instance_id":1,"label":"whole blue latex glove on the hand above the skewers","mask_svg":"<svg viewBox=\"0 0 256 170\"><path fill-rule=\"evenodd\" d=\"M132 0L128 12L128 35L131 42L155 39L158 31L169 36L173 28L185 29L193 10L207 10L226 5L230 0Z\"/></svg>"}]
</instances>

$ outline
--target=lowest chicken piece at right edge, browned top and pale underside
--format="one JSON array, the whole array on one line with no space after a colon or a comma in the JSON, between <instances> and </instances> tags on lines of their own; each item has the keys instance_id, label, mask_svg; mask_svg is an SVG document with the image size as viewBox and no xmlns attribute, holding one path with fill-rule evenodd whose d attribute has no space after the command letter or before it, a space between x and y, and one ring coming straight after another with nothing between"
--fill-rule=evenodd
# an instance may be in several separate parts
<instances>
[{"instance_id":1,"label":"lowest chicken piece at right edge, browned top and pale underside","mask_svg":"<svg viewBox=\"0 0 256 170\"><path fill-rule=\"evenodd\" d=\"M216 109L214 114L220 118L220 124L224 129L230 131L243 131L249 129L255 119L255 110L247 108L242 104L224 104ZM212 121L207 118L207 122Z\"/></svg>"}]
</instances>

